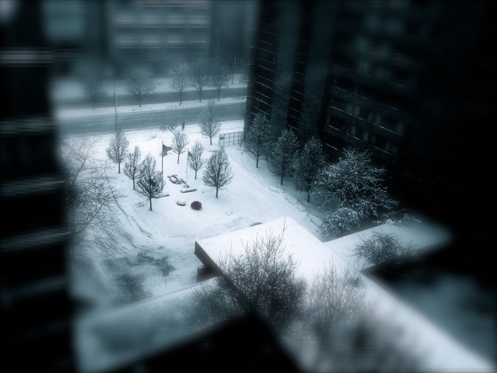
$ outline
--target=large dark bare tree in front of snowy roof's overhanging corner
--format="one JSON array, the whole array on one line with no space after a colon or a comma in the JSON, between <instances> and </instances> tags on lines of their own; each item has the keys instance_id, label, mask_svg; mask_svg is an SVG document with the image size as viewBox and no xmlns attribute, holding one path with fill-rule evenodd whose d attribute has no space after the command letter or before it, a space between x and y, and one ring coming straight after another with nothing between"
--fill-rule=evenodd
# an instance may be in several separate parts
<instances>
[{"instance_id":1,"label":"large dark bare tree in front of snowy roof's overhanging corner","mask_svg":"<svg viewBox=\"0 0 497 373\"><path fill-rule=\"evenodd\" d=\"M247 243L239 257L220 258L221 276L193 290L195 321L212 325L255 312L282 332L303 316L307 284L297 276L299 263L285 253L283 232Z\"/></svg>"}]
</instances>

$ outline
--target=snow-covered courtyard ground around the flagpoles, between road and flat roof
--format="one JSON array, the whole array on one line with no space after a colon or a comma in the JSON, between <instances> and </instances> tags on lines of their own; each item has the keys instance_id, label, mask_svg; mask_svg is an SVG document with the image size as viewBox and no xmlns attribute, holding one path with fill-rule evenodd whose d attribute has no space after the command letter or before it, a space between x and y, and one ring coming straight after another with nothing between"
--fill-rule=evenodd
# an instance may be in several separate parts
<instances>
[{"instance_id":1,"label":"snow-covered courtyard ground around the flagpoles, between road and flat roof","mask_svg":"<svg viewBox=\"0 0 497 373\"><path fill-rule=\"evenodd\" d=\"M228 121L223 122L221 133L242 130L243 120ZM214 139L213 145L209 145L209 139L202 137L197 125L187 125L185 133L189 138L189 147L196 140L202 143L205 158L219 148ZM103 135L97 143L98 154L102 159L106 159L105 149L111 137L110 134ZM158 171L162 169L162 142L170 146L171 132L159 129L131 131L126 132L126 137L130 150L139 146L143 156L150 152L157 160ZM187 171L186 153L180 155L178 164L177 154L169 151L164 157L164 192L169 195L153 199L153 211L149 211L148 200L133 190L132 181L122 172L118 174L117 165L115 166L116 186L123 188L127 195L119 207L122 224L116 227L121 238L121 241L116 243L119 247L119 257L134 259L137 254L144 252L157 259L166 257L169 266L174 268L167 283L159 267L134 266L122 268L119 273L125 270L143 273L147 278L147 287L155 296L184 288L195 282L197 266L201 265L193 254L195 240L281 216L291 216L320 240L327 240L319 230L320 213L315 206L307 204L306 193L295 191L290 180L284 180L284 185L280 186L279 178L269 173L265 162L259 161L259 167L255 168L255 161L243 154L239 145L225 149L231 162L234 180L225 190L219 191L218 198L215 189L203 184L202 170L197 173L197 179L194 179L194 171ZM197 190L182 193L181 186L172 184L167 179L169 175L177 175ZM177 205L177 200L184 200L186 206ZM190 207L194 200L202 203L200 211ZM119 266L123 265L124 261L121 260ZM108 271L108 268L102 268L102 275L109 275ZM105 296L101 300L105 301Z\"/></svg>"}]
</instances>

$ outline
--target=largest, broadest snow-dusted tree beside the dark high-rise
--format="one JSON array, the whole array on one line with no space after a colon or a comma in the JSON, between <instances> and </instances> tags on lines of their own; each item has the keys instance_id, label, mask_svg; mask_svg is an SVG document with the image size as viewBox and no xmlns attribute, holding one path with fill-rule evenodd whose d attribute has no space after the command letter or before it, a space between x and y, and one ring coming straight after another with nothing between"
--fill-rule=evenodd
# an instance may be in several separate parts
<instances>
[{"instance_id":1,"label":"largest, broadest snow-dusted tree beside the dark high-rise","mask_svg":"<svg viewBox=\"0 0 497 373\"><path fill-rule=\"evenodd\" d=\"M338 162L326 167L318 186L323 206L331 203L357 211L361 217L376 218L380 210L390 210L397 201L383 187L385 170L372 165L367 152L345 151Z\"/></svg>"}]
</instances>

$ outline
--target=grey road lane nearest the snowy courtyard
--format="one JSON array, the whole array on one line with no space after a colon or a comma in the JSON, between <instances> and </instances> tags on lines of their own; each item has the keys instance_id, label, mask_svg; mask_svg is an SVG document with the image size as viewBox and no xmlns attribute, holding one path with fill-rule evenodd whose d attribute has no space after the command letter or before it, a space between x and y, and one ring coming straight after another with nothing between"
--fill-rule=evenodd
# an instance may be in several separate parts
<instances>
[{"instance_id":1,"label":"grey road lane nearest the snowy courtyard","mask_svg":"<svg viewBox=\"0 0 497 373\"><path fill-rule=\"evenodd\" d=\"M246 108L245 101L216 105L217 120L243 119ZM121 113L117 117L117 126L124 131L145 128L161 128L167 126L198 123L203 106L154 110L134 113ZM86 116L81 118L59 120L61 136L90 135L110 133L115 130L114 114Z\"/></svg>"}]
</instances>

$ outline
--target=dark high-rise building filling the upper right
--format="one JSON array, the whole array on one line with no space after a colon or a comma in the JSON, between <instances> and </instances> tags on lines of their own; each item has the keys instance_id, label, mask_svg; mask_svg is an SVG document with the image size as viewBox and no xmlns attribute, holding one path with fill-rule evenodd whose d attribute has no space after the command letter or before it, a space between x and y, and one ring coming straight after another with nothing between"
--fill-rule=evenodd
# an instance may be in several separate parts
<instances>
[{"instance_id":1,"label":"dark high-rise building filling the upper right","mask_svg":"<svg viewBox=\"0 0 497 373\"><path fill-rule=\"evenodd\" d=\"M318 136L330 161L367 150L404 206L456 220L480 179L461 167L489 156L474 125L491 118L495 5L295 0L258 9L245 130L260 112L276 134L291 128L302 144Z\"/></svg>"}]
</instances>

